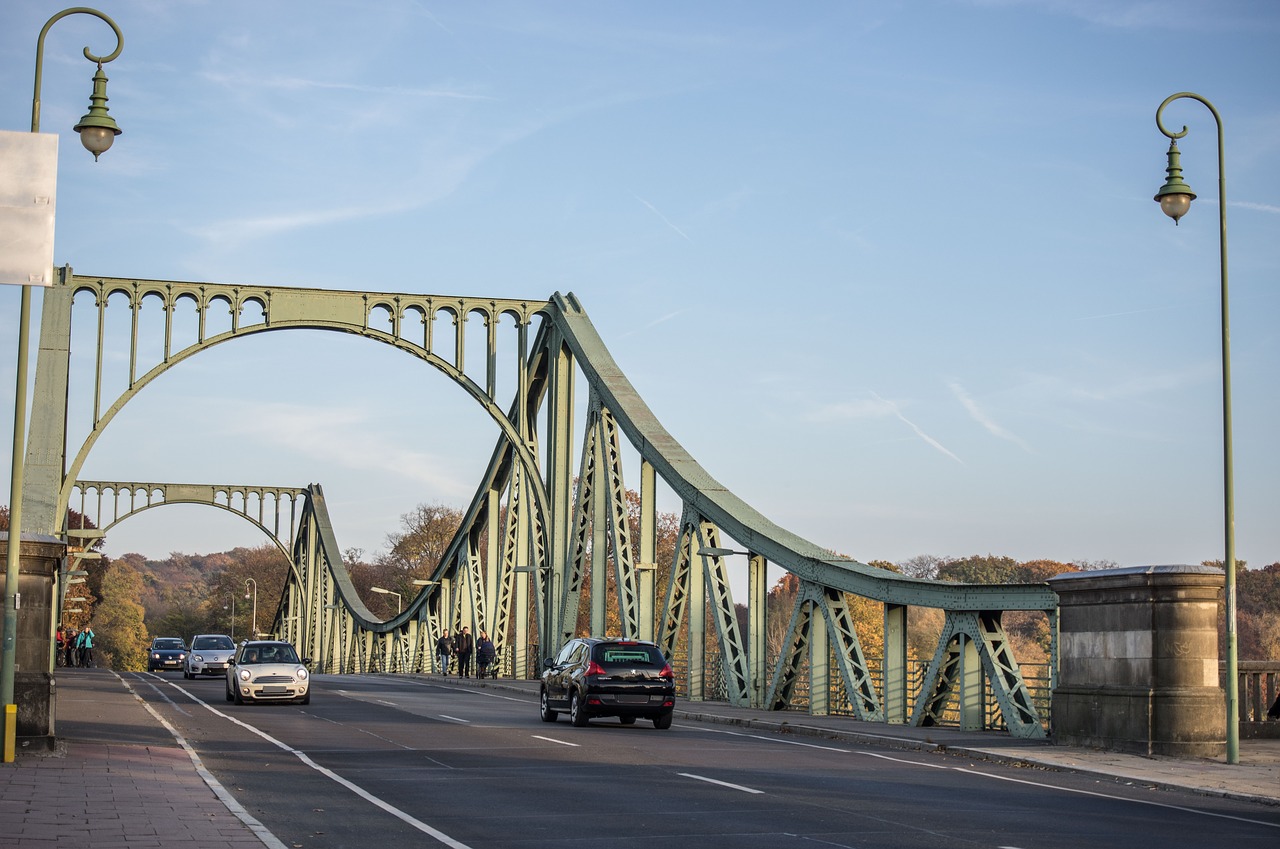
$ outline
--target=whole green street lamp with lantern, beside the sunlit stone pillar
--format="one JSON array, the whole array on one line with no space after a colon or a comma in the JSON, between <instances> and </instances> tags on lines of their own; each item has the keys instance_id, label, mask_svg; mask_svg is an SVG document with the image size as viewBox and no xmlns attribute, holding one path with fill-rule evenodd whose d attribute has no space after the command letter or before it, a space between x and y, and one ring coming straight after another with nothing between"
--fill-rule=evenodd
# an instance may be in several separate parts
<instances>
[{"instance_id":1,"label":"whole green street lamp with lantern, beside the sunlit stone pillar","mask_svg":"<svg viewBox=\"0 0 1280 849\"><path fill-rule=\"evenodd\" d=\"M1224 531L1226 535L1226 762L1240 762L1240 716L1239 716L1239 680L1236 670L1235 640L1235 494L1231 473L1231 332L1226 303L1226 169L1222 155L1222 117L1217 114L1213 104L1199 95L1181 91L1165 97L1165 101L1156 109L1156 127L1169 138L1169 166L1165 169L1167 178L1165 184L1156 192L1155 200L1160 209L1178 223L1178 219L1190 209L1196 195L1190 187L1183 182L1181 154L1178 151L1178 140L1187 134L1187 127L1179 133L1171 133L1160 119L1165 106L1175 100L1197 100L1204 104L1213 114L1217 123L1217 227L1219 227L1219 264L1221 268L1221 297L1222 297L1222 506L1224 506Z\"/></svg>"}]
</instances>

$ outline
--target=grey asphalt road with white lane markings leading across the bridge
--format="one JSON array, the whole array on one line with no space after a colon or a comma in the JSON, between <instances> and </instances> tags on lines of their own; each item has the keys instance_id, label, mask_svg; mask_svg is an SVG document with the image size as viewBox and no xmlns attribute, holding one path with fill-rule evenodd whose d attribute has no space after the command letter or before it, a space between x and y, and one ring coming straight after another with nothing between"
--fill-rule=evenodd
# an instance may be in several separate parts
<instances>
[{"instance_id":1,"label":"grey asphalt road with white lane markings leading across the bridge","mask_svg":"<svg viewBox=\"0 0 1280 849\"><path fill-rule=\"evenodd\" d=\"M541 722L532 694L316 676L308 706L128 674L293 849L1274 846L1280 808L682 722Z\"/></svg>"}]
</instances>

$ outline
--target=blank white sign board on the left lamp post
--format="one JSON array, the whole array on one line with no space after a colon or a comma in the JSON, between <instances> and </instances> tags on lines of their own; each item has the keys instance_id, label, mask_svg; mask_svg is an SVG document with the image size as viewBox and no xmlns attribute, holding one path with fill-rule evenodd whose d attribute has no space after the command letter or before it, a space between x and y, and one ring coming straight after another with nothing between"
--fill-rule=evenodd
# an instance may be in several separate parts
<instances>
[{"instance_id":1,"label":"blank white sign board on the left lamp post","mask_svg":"<svg viewBox=\"0 0 1280 849\"><path fill-rule=\"evenodd\" d=\"M58 136L0 131L0 283L50 286Z\"/></svg>"}]
</instances>

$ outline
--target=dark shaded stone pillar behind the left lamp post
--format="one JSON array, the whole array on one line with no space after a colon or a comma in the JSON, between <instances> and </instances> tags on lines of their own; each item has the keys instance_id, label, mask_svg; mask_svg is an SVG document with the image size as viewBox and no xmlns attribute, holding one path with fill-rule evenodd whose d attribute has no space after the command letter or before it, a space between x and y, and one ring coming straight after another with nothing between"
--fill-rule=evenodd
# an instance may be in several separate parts
<instances>
[{"instance_id":1,"label":"dark shaded stone pillar behind the left lamp post","mask_svg":"<svg viewBox=\"0 0 1280 849\"><path fill-rule=\"evenodd\" d=\"M67 552L55 537L23 534L18 562L18 636L14 642L13 698L19 738L54 735L54 576ZM9 534L0 531L0 561L9 553ZM0 570L0 593L5 592Z\"/></svg>"}]
</instances>

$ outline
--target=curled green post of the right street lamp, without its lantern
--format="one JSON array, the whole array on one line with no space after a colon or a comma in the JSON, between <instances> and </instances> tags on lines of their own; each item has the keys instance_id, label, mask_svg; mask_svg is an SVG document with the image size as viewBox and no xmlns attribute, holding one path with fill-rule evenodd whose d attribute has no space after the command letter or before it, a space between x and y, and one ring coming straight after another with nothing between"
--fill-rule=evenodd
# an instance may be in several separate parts
<instances>
[{"instance_id":1,"label":"curled green post of the right street lamp, without its lantern","mask_svg":"<svg viewBox=\"0 0 1280 849\"><path fill-rule=\"evenodd\" d=\"M1156 127L1170 141L1176 142L1187 134L1187 127L1180 133L1171 133L1165 129L1160 120L1165 106L1181 99L1197 100L1204 104L1213 114L1217 124L1217 227L1219 227L1219 278L1221 282L1221 316L1222 316L1222 511L1224 534L1226 547L1226 762L1240 762L1240 683L1238 676L1239 658L1236 653L1235 630L1235 484L1231 462L1231 330L1230 314L1228 311L1226 297L1226 158L1222 145L1222 117L1213 108L1213 104L1199 95L1181 91L1165 97L1165 101L1156 109ZM1194 197L1194 195L1192 195ZM1158 195L1157 195L1158 198ZM1178 219L1174 219L1175 222Z\"/></svg>"}]
</instances>

